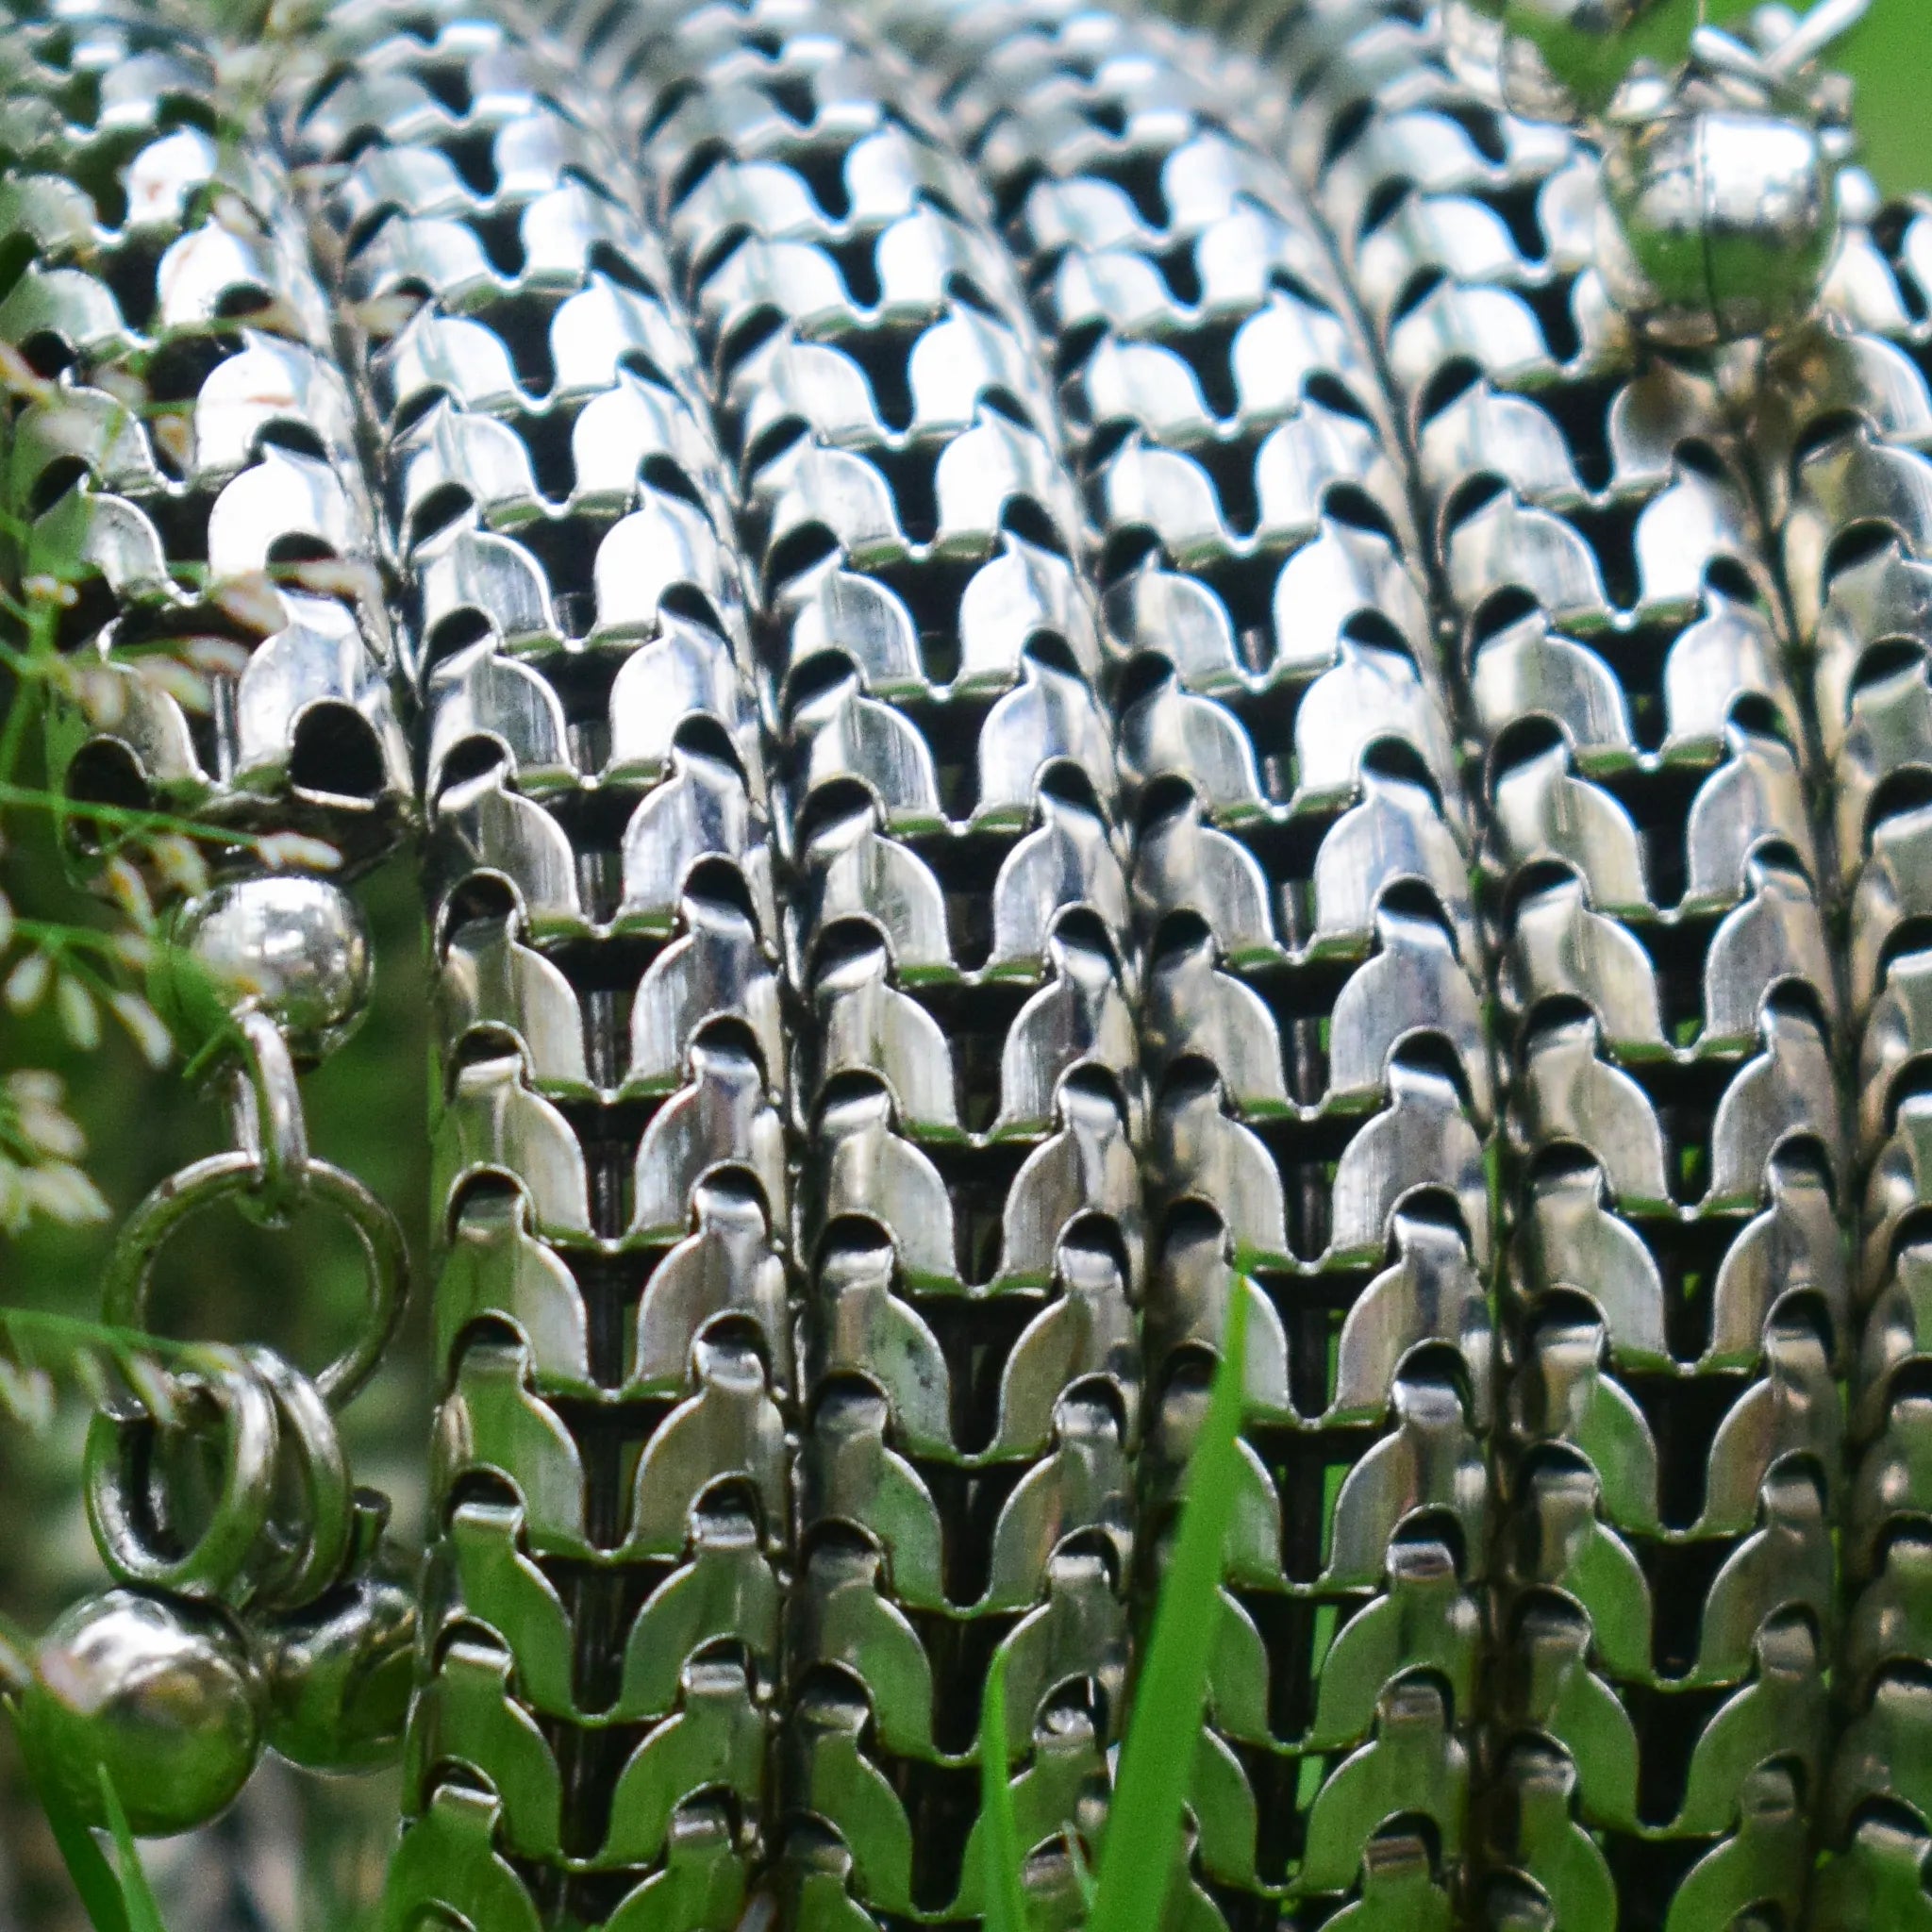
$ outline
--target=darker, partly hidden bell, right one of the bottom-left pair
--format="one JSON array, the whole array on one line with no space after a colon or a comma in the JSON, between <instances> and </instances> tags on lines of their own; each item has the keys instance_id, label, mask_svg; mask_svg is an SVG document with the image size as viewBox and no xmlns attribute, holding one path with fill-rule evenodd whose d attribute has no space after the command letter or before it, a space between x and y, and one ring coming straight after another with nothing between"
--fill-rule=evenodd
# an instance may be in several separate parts
<instances>
[{"instance_id":1,"label":"darker, partly hidden bell, right one of the bottom-left pair","mask_svg":"<svg viewBox=\"0 0 1932 1932\"><path fill-rule=\"evenodd\" d=\"M415 1590L384 1544L386 1499L357 1492L357 1553L313 1604L257 1625L269 1745L311 1772L365 1772L402 1747L415 1662Z\"/></svg>"}]
</instances>

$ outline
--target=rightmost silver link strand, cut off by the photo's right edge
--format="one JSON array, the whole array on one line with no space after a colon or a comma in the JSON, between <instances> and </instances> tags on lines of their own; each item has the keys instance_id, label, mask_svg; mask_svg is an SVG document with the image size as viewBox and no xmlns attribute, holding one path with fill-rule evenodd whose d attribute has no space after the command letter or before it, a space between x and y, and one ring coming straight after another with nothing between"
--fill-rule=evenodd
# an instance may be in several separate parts
<instances>
[{"instance_id":1,"label":"rightmost silver link strand, cut off by the photo's right edge","mask_svg":"<svg viewBox=\"0 0 1932 1932\"><path fill-rule=\"evenodd\" d=\"M1932 214L1853 226L1822 325L1754 375L1754 440L1812 676L1859 1032L1851 1584L1820 1797L1818 1932L1932 1926L1932 1420L1918 1329L1932 1246ZM1874 197L1876 199L1876 197ZM1922 1016L1924 1014L1924 1016Z\"/></svg>"}]
</instances>

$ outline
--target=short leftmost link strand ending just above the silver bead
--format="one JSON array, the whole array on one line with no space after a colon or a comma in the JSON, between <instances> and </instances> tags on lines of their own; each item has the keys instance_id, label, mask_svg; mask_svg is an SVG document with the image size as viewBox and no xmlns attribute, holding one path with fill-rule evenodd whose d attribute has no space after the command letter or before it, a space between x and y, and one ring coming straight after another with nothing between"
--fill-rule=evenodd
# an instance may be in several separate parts
<instances>
[{"instance_id":1,"label":"short leftmost link strand ending just above the silver bead","mask_svg":"<svg viewBox=\"0 0 1932 1932\"><path fill-rule=\"evenodd\" d=\"M193 21L0 21L6 495L29 595L66 585L50 781L81 808L307 833L357 864L410 759L375 518L328 309L272 147ZM164 657L201 665L191 709ZM70 821L81 873L126 840ZM245 860L253 864L253 860ZM156 900L178 881L156 873Z\"/></svg>"}]
</instances>

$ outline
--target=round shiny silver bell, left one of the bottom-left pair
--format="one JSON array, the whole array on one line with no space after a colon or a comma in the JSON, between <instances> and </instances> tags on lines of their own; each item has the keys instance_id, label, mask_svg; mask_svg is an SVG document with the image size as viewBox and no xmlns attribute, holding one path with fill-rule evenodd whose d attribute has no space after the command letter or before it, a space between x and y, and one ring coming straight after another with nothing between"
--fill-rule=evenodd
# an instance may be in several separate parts
<instances>
[{"instance_id":1,"label":"round shiny silver bell, left one of the bottom-left pair","mask_svg":"<svg viewBox=\"0 0 1932 1932\"><path fill-rule=\"evenodd\" d=\"M83 1598L41 1638L19 1696L37 1776L89 1824L108 1822L106 1770L141 1837L220 1816L263 1741L263 1683L213 1605L143 1590Z\"/></svg>"}]
</instances>

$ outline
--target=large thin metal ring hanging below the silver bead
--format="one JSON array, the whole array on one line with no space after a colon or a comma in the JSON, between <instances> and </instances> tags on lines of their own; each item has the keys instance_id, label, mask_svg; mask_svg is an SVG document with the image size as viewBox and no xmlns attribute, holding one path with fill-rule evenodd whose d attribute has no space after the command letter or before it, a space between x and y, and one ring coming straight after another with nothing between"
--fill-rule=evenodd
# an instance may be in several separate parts
<instances>
[{"instance_id":1,"label":"large thin metal ring hanging below the silver bead","mask_svg":"<svg viewBox=\"0 0 1932 1932\"><path fill-rule=\"evenodd\" d=\"M211 1153L170 1175L128 1217L100 1285L100 1320L147 1331L147 1296L155 1258L174 1229L203 1208L249 1194L261 1184L261 1163L243 1150ZM408 1250L396 1217L354 1175L328 1161L309 1161L309 1198L340 1209L361 1244L369 1275L369 1318L355 1341L315 1378L330 1408L342 1408L369 1379L402 1316Z\"/></svg>"}]
</instances>

